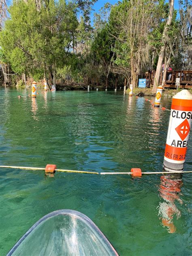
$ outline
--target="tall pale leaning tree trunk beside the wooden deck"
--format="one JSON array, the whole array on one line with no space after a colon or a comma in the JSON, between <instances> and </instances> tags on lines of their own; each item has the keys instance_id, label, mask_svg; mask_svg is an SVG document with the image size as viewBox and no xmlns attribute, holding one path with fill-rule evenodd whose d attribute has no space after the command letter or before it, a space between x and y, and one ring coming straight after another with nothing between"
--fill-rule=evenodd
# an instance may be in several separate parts
<instances>
[{"instance_id":1,"label":"tall pale leaning tree trunk beside the wooden deck","mask_svg":"<svg viewBox=\"0 0 192 256\"><path fill-rule=\"evenodd\" d=\"M172 17L173 17L173 10L174 10L174 0L169 0L169 17L167 19L166 25L164 27L163 35L162 35L162 42L163 45L161 47L160 53L159 53L159 59L158 59L158 64L156 68L156 74L154 77L154 86L152 92L156 92L157 86L159 85L159 79L160 79L160 72L161 72L161 67L162 67L162 62L164 58L164 53L166 50L166 37L167 37L167 30L168 27L171 25Z\"/></svg>"}]
</instances>

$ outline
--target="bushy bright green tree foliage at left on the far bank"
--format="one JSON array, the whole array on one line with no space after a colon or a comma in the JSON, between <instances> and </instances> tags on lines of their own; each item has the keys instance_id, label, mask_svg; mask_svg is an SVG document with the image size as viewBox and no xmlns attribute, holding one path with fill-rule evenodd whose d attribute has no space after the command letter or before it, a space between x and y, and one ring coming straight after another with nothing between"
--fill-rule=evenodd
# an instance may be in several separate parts
<instances>
[{"instance_id":1,"label":"bushy bright green tree foliage at left on the far bank","mask_svg":"<svg viewBox=\"0 0 192 256\"><path fill-rule=\"evenodd\" d=\"M33 0L13 2L11 19L0 33L0 44L15 72L40 77L64 65L66 49L78 22L73 4L46 1L38 12ZM42 78L42 77L41 77Z\"/></svg>"}]
</instances>

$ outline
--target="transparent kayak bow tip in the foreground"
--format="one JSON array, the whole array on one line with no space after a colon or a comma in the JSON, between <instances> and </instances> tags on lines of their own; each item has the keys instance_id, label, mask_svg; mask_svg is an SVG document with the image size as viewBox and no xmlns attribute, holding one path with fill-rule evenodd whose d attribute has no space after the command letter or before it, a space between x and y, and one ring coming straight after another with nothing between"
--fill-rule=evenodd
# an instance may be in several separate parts
<instances>
[{"instance_id":1,"label":"transparent kayak bow tip in the foreground","mask_svg":"<svg viewBox=\"0 0 192 256\"><path fill-rule=\"evenodd\" d=\"M118 255L100 229L84 214L53 211L38 220L7 256Z\"/></svg>"}]
</instances>

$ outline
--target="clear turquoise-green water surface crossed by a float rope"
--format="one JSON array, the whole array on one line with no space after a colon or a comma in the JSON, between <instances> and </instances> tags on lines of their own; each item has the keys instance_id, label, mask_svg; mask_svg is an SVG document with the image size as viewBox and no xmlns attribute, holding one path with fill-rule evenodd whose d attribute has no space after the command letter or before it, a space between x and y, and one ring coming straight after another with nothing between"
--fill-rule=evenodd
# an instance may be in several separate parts
<instances>
[{"instance_id":1,"label":"clear turquoise-green water surface crossed by a float rope","mask_svg":"<svg viewBox=\"0 0 192 256\"><path fill-rule=\"evenodd\" d=\"M0 88L0 165L162 171L169 111L122 92L42 91L36 100L28 93ZM162 105L170 107L171 98L163 98ZM185 170L192 170L191 156L192 139ZM191 255L191 176L176 181L182 184L171 196L176 232L169 233L160 220L166 204L160 175L56 173L53 178L43 171L0 169L0 255L39 218L58 209L87 215L120 255Z\"/></svg>"}]
</instances>

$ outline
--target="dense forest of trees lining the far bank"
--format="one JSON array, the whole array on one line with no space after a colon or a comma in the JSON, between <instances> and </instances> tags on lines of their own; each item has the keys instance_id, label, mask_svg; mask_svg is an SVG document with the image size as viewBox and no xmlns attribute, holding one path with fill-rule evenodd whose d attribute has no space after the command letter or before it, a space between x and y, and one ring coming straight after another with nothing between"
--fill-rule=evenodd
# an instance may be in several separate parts
<instances>
[{"instance_id":1,"label":"dense forest of trees lining the far bank","mask_svg":"<svg viewBox=\"0 0 192 256\"><path fill-rule=\"evenodd\" d=\"M7 85L42 81L113 87L162 64L191 69L188 0L122 0L90 13L96 0L0 0L0 67Z\"/></svg>"}]
</instances>

